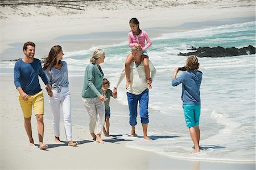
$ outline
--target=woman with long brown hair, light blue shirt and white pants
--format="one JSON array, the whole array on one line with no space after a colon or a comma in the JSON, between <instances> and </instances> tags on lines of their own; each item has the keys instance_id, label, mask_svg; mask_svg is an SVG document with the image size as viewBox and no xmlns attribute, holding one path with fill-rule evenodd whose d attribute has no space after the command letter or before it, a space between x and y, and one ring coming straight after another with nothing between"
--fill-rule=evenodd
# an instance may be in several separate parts
<instances>
[{"instance_id":1,"label":"woman with long brown hair, light blue shirt and white pants","mask_svg":"<svg viewBox=\"0 0 256 170\"><path fill-rule=\"evenodd\" d=\"M60 45L51 48L48 57L44 60L44 72L52 87L53 96L49 98L53 114L53 130L55 142L60 142L60 106L63 109L65 134L68 146L77 146L72 141L71 97L68 89L68 64L63 59Z\"/></svg>"}]
</instances>

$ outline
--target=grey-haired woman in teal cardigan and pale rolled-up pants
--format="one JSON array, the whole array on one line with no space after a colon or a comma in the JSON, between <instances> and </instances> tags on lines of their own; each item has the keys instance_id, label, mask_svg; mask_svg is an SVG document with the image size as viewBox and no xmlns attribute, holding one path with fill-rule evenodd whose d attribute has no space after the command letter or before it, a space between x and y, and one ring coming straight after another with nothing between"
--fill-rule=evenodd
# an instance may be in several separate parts
<instances>
[{"instance_id":1,"label":"grey-haired woman in teal cardigan and pale rolled-up pants","mask_svg":"<svg viewBox=\"0 0 256 170\"><path fill-rule=\"evenodd\" d=\"M105 122L106 98L102 95L104 73L100 67L104 63L105 52L103 49L96 49L87 65L84 73L84 87L82 89L82 101L89 114L89 130L93 140L105 143L101 139L101 133ZM97 125L97 126L96 126ZM95 134L96 132L96 134Z\"/></svg>"}]
</instances>

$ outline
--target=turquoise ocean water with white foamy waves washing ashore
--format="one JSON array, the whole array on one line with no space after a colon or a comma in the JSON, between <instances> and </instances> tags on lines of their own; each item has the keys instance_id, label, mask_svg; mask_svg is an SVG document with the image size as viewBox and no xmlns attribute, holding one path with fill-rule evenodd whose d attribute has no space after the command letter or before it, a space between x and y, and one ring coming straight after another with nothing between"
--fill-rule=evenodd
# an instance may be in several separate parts
<instances>
[{"instance_id":1,"label":"turquoise ocean water with white foamy waves washing ashore","mask_svg":"<svg viewBox=\"0 0 256 170\"><path fill-rule=\"evenodd\" d=\"M193 47L255 47L255 22L204 27L187 32L163 34L151 39L148 55L157 70L150 90L148 136L153 140L142 140L142 128L138 118L138 138L129 137L129 114L112 110L110 131L115 138L131 140L127 147L152 151L166 156L205 161L228 161L255 163L255 55L199 58L203 72L201 84L201 152L190 154L193 143L185 126L181 85L171 86L176 67L185 64L186 56L179 52L190 52ZM68 63L69 77L83 79L86 65L94 49L64 52ZM105 77L114 85L130 48L127 42L102 45L105 63L101 65ZM0 62L1 73L13 69L14 62ZM178 73L178 76L181 73ZM113 86L112 86L113 88ZM112 89L111 88L111 89ZM73 95L80 95L77 88ZM113 100L113 99L112 99ZM127 105L125 81L118 88L117 101ZM74 122L84 124L84 107L74 103ZM73 114L74 115L74 114ZM88 117L86 117L88 119ZM125 122L125 123L124 123ZM88 126L84 125L84 126Z\"/></svg>"}]
</instances>

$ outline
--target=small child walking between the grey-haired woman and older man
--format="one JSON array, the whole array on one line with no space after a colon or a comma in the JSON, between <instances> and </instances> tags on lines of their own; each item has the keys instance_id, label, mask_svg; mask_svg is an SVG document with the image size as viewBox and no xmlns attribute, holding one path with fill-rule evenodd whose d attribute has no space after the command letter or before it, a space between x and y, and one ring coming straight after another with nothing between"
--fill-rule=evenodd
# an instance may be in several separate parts
<instances>
[{"instance_id":1,"label":"small child walking between the grey-haired woman and older man","mask_svg":"<svg viewBox=\"0 0 256 170\"><path fill-rule=\"evenodd\" d=\"M114 97L117 98L117 94L113 94L112 90L109 89L110 86L110 82L106 79L103 78L103 89L104 89L104 96L106 98L105 101L105 122L106 122L106 129L105 126L103 126L103 132L105 134L105 136L109 136L109 118L110 118L110 106L109 106L109 102L110 102L110 97Z\"/></svg>"}]
</instances>

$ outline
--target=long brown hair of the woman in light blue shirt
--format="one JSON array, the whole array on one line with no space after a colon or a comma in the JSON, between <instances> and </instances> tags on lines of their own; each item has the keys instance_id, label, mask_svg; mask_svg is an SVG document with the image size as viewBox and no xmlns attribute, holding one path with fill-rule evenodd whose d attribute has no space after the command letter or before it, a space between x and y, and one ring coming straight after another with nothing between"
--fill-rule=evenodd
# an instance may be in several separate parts
<instances>
[{"instance_id":1,"label":"long brown hair of the woman in light blue shirt","mask_svg":"<svg viewBox=\"0 0 256 170\"><path fill-rule=\"evenodd\" d=\"M61 47L60 45L55 45L51 48L49 55L46 59L44 59L44 71L49 67L49 69L51 70L57 63L57 55L61 52ZM61 62L61 61L59 61ZM60 64L60 63L58 63Z\"/></svg>"}]
</instances>

